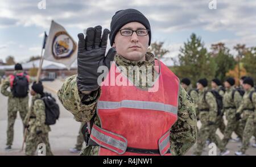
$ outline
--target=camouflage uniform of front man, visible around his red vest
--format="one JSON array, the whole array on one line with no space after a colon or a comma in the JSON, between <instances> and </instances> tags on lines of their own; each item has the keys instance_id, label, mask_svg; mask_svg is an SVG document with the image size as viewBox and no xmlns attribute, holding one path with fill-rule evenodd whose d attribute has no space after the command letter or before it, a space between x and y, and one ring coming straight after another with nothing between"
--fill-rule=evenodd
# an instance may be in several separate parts
<instances>
[{"instance_id":1,"label":"camouflage uniform of front man, visible around his red vest","mask_svg":"<svg viewBox=\"0 0 256 167\"><path fill-rule=\"evenodd\" d=\"M127 68L130 65L152 66L154 65L154 55L152 55L151 53L147 53L146 61L139 62L126 60L122 56L116 55L114 61L118 66L122 65ZM140 72L145 73L144 71ZM61 86L60 90L58 91L57 96L59 97L60 102L63 104L63 106L68 111L72 112L77 121L89 122L96 112L96 104L98 99L100 98L100 94L100 89L98 91L94 91L91 95L86 96L80 94L79 90L77 89L76 75L74 75L68 77L65 80L63 86ZM186 91L181 86L179 91L179 105L177 116L177 122L171 128L171 151L173 155L184 155L184 153L187 152L188 149L191 148L192 145L195 143L197 129L195 107L192 103L191 98L187 95ZM101 126L98 116L96 116L94 123L99 127ZM98 146L89 145L85 149L83 149L81 155L98 155L98 149Z\"/></svg>"}]
</instances>

